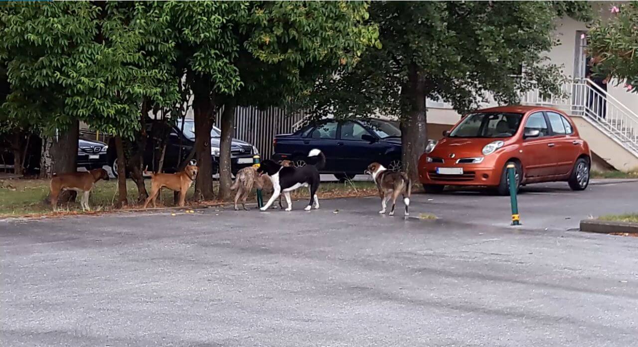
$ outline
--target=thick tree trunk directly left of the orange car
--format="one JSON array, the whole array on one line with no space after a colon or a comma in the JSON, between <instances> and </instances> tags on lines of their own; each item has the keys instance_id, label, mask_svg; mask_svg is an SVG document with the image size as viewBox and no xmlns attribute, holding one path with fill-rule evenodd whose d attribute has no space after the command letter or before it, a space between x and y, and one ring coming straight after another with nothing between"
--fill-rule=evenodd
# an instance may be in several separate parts
<instances>
[{"instance_id":1,"label":"thick tree trunk directly left of the orange car","mask_svg":"<svg viewBox=\"0 0 638 347\"><path fill-rule=\"evenodd\" d=\"M413 182L419 181L419 157L426 150L426 83L415 64L408 67L408 83L403 88L406 114L401 119L401 164Z\"/></svg>"}]
</instances>

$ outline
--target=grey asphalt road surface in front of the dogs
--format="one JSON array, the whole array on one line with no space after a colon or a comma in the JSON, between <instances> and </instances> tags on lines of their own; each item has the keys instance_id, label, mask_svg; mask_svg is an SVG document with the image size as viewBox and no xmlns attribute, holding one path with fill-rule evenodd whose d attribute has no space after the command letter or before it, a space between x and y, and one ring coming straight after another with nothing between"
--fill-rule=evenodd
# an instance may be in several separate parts
<instances>
[{"instance_id":1,"label":"grey asphalt road surface in front of the dogs","mask_svg":"<svg viewBox=\"0 0 638 347\"><path fill-rule=\"evenodd\" d=\"M567 230L637 193L530 187L519 228L480 193L4 220L0 343L638 346L638 238Z\"/></svg>"}]
</instances>

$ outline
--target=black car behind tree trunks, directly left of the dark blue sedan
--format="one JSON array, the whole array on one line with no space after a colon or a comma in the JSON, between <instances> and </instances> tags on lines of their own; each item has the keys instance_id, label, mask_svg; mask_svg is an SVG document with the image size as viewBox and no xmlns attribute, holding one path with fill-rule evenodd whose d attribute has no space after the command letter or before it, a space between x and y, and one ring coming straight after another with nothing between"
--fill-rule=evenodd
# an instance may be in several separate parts
<instances>
[{"instance_id":1,"label":"black car behind tree trunks, directly left of the dark blue sedan","mask_svg":"<svg viewBox=\"0 0 638 347\"><path fill-rule=\"evenodd\" d=\"M161 153L161 143L164 138L164 123L160 121L147 122L147 134L149 138L144 150L144 166L147 166L149 171L155 171L155 167L159 164L159 157ZM182 129L182 122L177 122L176 125L169 125L166 131L169 131L168 142L166 146L166 153L164 155L163 169L165 173L174 173L179 169L180 164L188 157L193 146L195 146L195 121L184 120L184 131ZM211 155L212 155L212 170L213 173L219 171L219 137L221 131L217 127L212 127L211 130ZM180 150L181 147L181 150ZM109 155L108 162L110 163L111 171L114 176L117 176L117 154L115 153L115 146L113 140L109 143ZM230 169L233 174L236 174L240 169L253 165L253 155L258 154L258 150L255 146L240 141L238 139L232 139L231 143L231 166Z\"/></svg>"}]
</instances>

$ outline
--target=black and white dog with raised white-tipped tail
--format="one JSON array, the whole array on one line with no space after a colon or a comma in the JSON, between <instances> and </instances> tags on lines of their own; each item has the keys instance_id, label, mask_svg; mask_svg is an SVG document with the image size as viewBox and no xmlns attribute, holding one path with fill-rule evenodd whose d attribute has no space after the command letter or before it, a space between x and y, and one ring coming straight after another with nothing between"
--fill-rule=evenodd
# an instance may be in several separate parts
<instances>
[{"instance_id":1,"label":"black and white dog with raised white-tipped tail","mask_svg":"<svg viewBox=\"0 0 638 347\"><path fill-rule=\"evenodd\" d=\"M272 180L272 196L271 199L261 208L266 211L271 207L272 203L283 192L288 208L286 211L292 210L292 201L290 201L290 192L299 187L309 187L310 202L306 206L306 211L310 211L313 206L319 208L319 199L317 198L317 189L319 188L319 170L325 165L325 155L320 150L314 149L308 153L306 166L288 167L281 166L272 160L263 160L257 172L266 173Z\"/></svg>"}]
</instances>

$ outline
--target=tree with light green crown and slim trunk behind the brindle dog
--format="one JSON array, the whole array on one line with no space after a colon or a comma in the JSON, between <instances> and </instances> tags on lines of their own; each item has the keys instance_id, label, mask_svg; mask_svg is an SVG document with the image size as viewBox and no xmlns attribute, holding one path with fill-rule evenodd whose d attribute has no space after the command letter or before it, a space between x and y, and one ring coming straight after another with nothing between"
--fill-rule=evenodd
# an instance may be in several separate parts
<instances>
[{"instance_id":1,"label":"tree with light green crown and slim trunk behind the brindle dog","mask_svg":"<svg viewBox=\"0 0 638 347\"><path fill-rule=\"evenodd\" d=\"M219 196L230 196L230 144L235 106L284 106L312 89L316 78L339 66L349 68L377 41L376 25L366 23L366 3L249 2L232 35L232 64L241 85L220 93L221 143Z\"/></svg>"}]
</instances>

